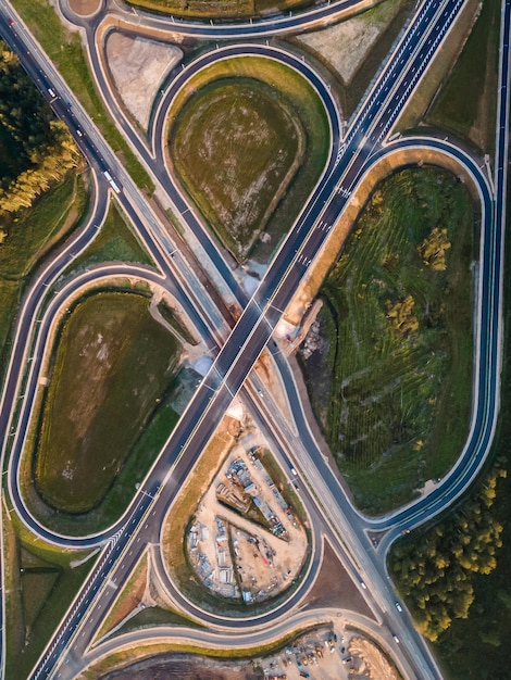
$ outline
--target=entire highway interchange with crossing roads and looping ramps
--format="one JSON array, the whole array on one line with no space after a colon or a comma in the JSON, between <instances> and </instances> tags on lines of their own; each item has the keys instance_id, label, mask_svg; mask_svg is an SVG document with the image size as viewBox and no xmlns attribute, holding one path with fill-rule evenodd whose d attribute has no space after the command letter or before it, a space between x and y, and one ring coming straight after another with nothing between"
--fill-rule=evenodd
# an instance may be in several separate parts
<instances>
[{"instance_id":1,"label":"entire highway interchange with crossing roads and looping ramps","mask_svg":"<svg viewBox=\"0 0 511 680\"><path fill-rule=\"evenodd\" d=\"M319 532L337 542L354 579L369 584L367 597L373 610L387 630L398 633L401 644L392 653L406 677L440 678L440 671L432 657L427 645L416 633L407 613L396 610L396 595L386 575L385 555L390 543L403 528L414 527L426 518L439 513L449 505L471 483L484 463L491 443L498 414L500 343L501 343L501 304L503 272L503 228L506 223L506 182L508 166L509 129L509 22L511 2L502 2L502 38L499 75L499 109L494 187L488 182L477 162L456 144L443 139L401 138L388 143L392 126L407 104L410 96L426 72L443 41L456 21L464 2L462 0L426 0L417 3L416 12L407 25L398 43L383 65L375 83L350 121L342 137L340 116L335 101L322 78L307 63L284 49L277 49L261 42L250 42L254 37L272 36L276 33L292 32L319 21L319 13L328 13L328 17L339 16L339 12L349 12L357 2L333 2L312 12L297 16L275 17L267 21L244 25L202 25L177 22L162 17L146 16L123 12L124 21L136 24L144 22L148 27L154 22L161 30L170 33L180 30L184 35L195 35L211 39L228 39L233 43L205 52L179 71L169 84L153 116L151 143L139 139L129 122L119 110L109 84L104 78L99 49L95 40L100 15L90 22L80 20L86 26L91 66L115 119L121 122L124 135L130 141L137 154L150 168L151 175L165 191L175 206L175 213L186 221L186 228L200 243L210 266L215 269L215 280L222 279L222 291L227 291L229 301L235 300L244 310L236 324L227 318L225 310L219 306L219 299L211 298L208 290L194 274L194 264L188 262L186 253L179 251L176 243L162 226L153 209L140 193L116 156L108 148L103 138L89 119L79 102L71 92L35 43L20 17L7 2L0 3L0 33L20 54L23 65L38 84L47 98L49 88L58 98L52 102L55 113L64 119L74 133L75 140L95 171L96 192L92 214L83 230L52 259L46 268L38 273L20 313L16 336L13 342L10 370L4 385L1 410L0 432L2 432L2 455L9 459L8 487L11 503L23 521L41 538L63 547L102 547L97 565L77 594L70 612L64 617L48 647L34 668L30 677L72 678L76 669L83 668L94 652L89 643L97 632L101 612L108 610L117 588L127 579L127 575L139 559L147 545L158 545L160 528L167 509L180 484L190 474L197 456L214 433L223 414L240 390L244 400L265 427L272 415L273 426L267 436L274 441L275 449L285 468L295 466L303 480L301 494L314 518L315 542L313 557L303 583L273 612L253 619L225 619L199 610L183 600L175 585L170 581L162 565L159 550L154 550L161 579L172 592L173 597L186 607L195 617L208 621L225 638L229 635L232 644L237 644L239 635L257 640L271 635L278 621L286 620L294 625L296 613L307 587L315 577L321 562ZM114 4L113 11L121 9ZM77 22L66 2L62 10L70 21ZM13 21L10 26L9 21ZM320 17L325 21L325 16ZM329 21L329 20L328 20ZM308 24L309 22L309 24ZM136 26L134 25L134 28ZM235 42L236 41L236 42ZM249 300L224 261L211 237L204 230L200 218L189 210L186 197L176 187L165 167L163 152L163 133L165 114L179 88L199 70L216 60L235 58L242 54L259 54L282 61L296 68L315 87L324 102L331 135L332 153L325 171L303 212L297 219L285 243L282 244L264 279L254 295ZM78 134L79 130L79 134ZM438 484L434 492L410 504L408 507L381 518L367 518L358 513L348 499L336 477L325 462L301 408L300 399L292 377L283 355L273 347L271 340L276 324L292 299L307 268L324 247L329 229L317 225L335 225L339 215L350 201L357 187L382 159L409 149L435 150L452 159L476 188L482 205L482 240L478 262L477 305L475 311L475 353L476 372L474 376L474 399L470 435L458 465ZM82 273L64 286L54 287L70 262L77 256L94 239L104 219L109 201L109 182L104 177L108 171L121 187L117 200L128 214L135 228L150 251L155 269L134 265L103 265ZM171 256L171 253L173 255ZM133 503L125 515L108 530L87 538L58 536L40 526L25 506L18 488L20 462L23 451L24 432L30 421L34 396L41 366L45 348L50 343L51 328L70 304L70 300L80 290L102 280L112 280L126 276L148 280L155 286L167 288L188 314L198 332L208 341L214 364L198 388L187 411L165 444L153 468L142 481ZM55 290L53 293L53 290ZM48 292L51 290L51 293ZM269 349L278 367L291 406L295 423L290 426L279 416L278 410L269 406L258 396L253 387L251 369L264 348ZM30 361L28 361L30 360ZM270 412L269 412L270 408ZM197 418L196 414L201 414ZM300 437L297 437L297 432ZM286 443L287 442L287 443ZM292 442L292 453L289 451ZM5 464L4 464L5 465ZM307 483L304 483L307 481ZM310 490L314 489L314 493ZM317 499L321 503L317 504ZM377 546L371 542L371 532L386 531ZM115 582L115 587L112 584ZM297 619L298 621L298 619ZM281 624L282 625L282 624ZM257 638L254 630L258 630ZM228 632L227 632L228 631ZM245 631L245 632L241 632ZM250 638L250 632L253 637ZM265 631L265 632L264 632ZM188 631L188 635L190 632ZM4 647L3 631L3 648ZM387 644L392 644L387 633ZM2 655L4 664L4 654Z\"/></svg>"}]
</instances>

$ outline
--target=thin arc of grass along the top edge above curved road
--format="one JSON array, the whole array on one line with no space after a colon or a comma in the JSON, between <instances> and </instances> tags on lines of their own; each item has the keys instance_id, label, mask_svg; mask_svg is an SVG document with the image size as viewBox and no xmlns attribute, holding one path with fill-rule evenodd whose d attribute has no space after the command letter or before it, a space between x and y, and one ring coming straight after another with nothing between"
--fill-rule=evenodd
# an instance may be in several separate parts
<instances>
[{"instance_id":1,"label":"thin arc of grass along the top edge above curved road","mask_svg":"<svg viewBox=\"0 0 511 680\"><path fill-rule=\"evenodd\" d=\"M242 18L307 8L312 0L128 0L128 3L176 16Z\"/></svg>"}]
</instances>

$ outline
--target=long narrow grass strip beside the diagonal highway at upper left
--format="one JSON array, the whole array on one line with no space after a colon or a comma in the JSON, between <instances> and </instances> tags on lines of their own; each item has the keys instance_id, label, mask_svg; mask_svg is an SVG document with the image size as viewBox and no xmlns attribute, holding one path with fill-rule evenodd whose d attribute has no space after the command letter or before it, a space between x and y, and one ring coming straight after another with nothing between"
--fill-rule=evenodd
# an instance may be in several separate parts
<instances>
[{"instance_id":1,"label":"long narrow grass strip beside the diagonal highway at upper left","mask_svg":"<svg viewBox=\"0 0 511 680\"><path fill-rule=\"evenodd\" d=\"M13 5L80 100L133 180L149 193L154 186L103 108L90 75L78 34L64 29L47 0L14 0Z\"/></svg>"}]
</instances>

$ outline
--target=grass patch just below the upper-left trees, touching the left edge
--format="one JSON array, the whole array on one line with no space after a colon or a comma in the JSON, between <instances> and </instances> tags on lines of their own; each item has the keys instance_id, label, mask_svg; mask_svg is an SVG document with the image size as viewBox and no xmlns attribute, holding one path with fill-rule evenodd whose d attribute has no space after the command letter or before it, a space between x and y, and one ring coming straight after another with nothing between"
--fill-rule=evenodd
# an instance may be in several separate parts
<instances>
[{"instance_id":1,"label":"grass patch just below the upper-left trees, touching the left edge","mask_svg":"<svg viewBox=\"0 0 511 680\"><path fill-rule=\"evenodd\" d=\"M52 245L77 226L86 206L83 178L70 174L30 209L15 216L2 215L8 236L0 248L0 348L4 347L30 272Z\"/></svg>"}]
</instances>

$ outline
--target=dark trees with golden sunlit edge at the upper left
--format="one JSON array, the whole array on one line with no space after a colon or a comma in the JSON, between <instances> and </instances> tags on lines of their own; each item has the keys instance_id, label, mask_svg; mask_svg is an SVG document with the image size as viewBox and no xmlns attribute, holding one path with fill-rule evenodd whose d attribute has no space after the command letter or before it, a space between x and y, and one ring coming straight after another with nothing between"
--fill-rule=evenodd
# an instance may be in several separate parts
<instances>
[{"instance_id":1,"label":"dark trees with golden sunlit edge at the upper left","mask_svg":"<svg viewBox=\"0 0 511 680\"><path fill-rule=\"evenodd\" d=\"M0 211L29 207L66 172L79 154L67 128L55 121L46 101L20 65L17 56L0 42L0 124L18 151L11 169L17 176L2 178ZM4 234L4 237L7 235Z\"/></svg>"}]
</instances>

